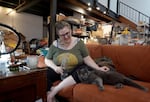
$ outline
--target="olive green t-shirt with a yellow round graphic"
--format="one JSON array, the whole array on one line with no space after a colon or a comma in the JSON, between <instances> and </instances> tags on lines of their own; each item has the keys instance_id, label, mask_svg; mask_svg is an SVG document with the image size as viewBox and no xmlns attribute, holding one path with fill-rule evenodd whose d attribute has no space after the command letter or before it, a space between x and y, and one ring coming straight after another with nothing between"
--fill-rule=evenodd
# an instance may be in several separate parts
<instances>
[{"instance_id":1,"label":"olive green t-shirt with a yellow round graphic","mask_svg":"<svg viewBox=\"0 0 150 102\"><path fill-rule=\"evenodd\" d=\"M69 50L61 49L53 44L50 46L46 58L54 61L56 65L65 64L66 69L73 69L83 63L83 58L88 56L88 49L82 40Z\"/></svg>"}]
</instances>

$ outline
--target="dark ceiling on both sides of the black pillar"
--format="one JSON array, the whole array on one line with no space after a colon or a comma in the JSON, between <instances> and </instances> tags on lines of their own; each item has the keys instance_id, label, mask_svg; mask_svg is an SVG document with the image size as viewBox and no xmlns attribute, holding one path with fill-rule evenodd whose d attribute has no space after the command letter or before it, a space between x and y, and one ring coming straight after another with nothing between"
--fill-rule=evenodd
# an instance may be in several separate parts
<instances>
[{"instance_id":1,"label":"dark ceiling on both sides of the black pillar","mask_svg":"<svg viewBox=\"0 0 150 102\"><path fill-rule=\"evenodd\" d=\"M50 3L52 0L0 0L0 6L13 8L18 13L27 12L39 16L50 15ZM102 20L109 22L111 17L106 16L98 11L87 11L87 5L81 0L57 0L57 13L63 13L66 16L72 16L73 12L79 12L79 9L83 9L84 15L94 20ZM81 13L81 12L79 12Z\"/></svg>"}]
</instances>

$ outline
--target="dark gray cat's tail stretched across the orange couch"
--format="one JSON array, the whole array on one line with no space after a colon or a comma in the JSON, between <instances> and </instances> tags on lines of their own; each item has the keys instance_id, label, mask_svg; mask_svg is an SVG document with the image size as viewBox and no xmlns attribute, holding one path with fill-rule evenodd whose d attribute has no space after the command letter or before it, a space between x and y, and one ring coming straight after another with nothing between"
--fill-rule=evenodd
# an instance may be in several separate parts
<instances>
[{"instance_id":1,"label":"dark gray cat's tail stretched across the orange couch","mask_svg":"<svg viewBox=\"0 0 150 102\"><path fill-rule=\"evenodd\" d=\"M146 88L146 87L144 87L144 86L142 86L142 85L139 85L138 83L134 82L134 81L131 80L130 78L125 78L125 79L124 79L124 83L125 83L126 85L133 86L133 87L135 87L135 88L141 89L141 90L143 90L143 91L145 91L145 92L147 92L147 91L149 90L148 88Z\"/></svg>"}]
</instances>

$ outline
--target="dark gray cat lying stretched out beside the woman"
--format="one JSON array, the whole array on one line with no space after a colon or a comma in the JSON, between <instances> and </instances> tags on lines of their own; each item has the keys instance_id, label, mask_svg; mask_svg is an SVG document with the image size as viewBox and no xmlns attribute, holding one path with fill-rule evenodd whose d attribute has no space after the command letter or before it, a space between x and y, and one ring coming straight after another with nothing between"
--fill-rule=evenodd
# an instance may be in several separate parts
<instances>
[{"instance_id":1,"label":"dark gray cat lying stretched out beside the woman","mask_svg":"<svg viewBox=\"0 0 150 102\"><path fill-rule=\"evenodd\" d=\"M102 72L99 70L93 70L87 65L83 64L79 66L77 74L79 80L82 83L90 83L98 85L100 90L104 90L103 84L115 85L116 88L122 88L123 85L129 85L141 89L143 91L148 91L148 88L143 87L135 83L132 79L124 76L123 74L115 70L115 66L110 58L102 57L96 61L99 66L107 66L110 71Z\"/></svg>"}]
</instances>

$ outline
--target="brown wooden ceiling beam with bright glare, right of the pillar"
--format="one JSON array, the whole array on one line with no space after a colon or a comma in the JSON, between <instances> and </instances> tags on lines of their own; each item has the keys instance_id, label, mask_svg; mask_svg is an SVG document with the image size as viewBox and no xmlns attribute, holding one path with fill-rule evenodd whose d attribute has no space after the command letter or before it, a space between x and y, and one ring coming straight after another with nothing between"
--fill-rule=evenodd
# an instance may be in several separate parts
<instances>
[{"instance_id":1,"label":"brown wooden ceiling beam with bright glare, right of the pillar","mask_svg":"<svg viewBox=\"0 0 150 102\"><path fill-rule=\"evenodd\" d=\"M73 11L81 13L85 15L86 17L92 18L96 21L110 22L114 20L112 17L109 17L108 15L103 14L103 12L98 11L96 9L93 9L92 11L88 11L87 10L88 6L82 2L79 2L79 0L64 0L64 1L61 2L59 6L72 9Z\"/></svg>"}]
</instances>

